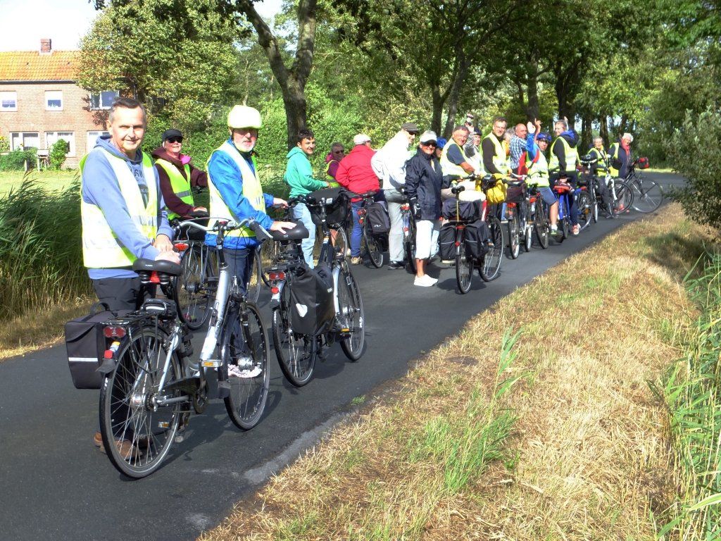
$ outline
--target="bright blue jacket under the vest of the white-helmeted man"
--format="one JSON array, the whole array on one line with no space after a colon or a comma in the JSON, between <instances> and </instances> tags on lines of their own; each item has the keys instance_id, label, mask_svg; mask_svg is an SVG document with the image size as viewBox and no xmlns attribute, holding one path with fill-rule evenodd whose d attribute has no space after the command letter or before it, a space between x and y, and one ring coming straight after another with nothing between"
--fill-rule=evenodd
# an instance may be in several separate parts
<instances>
[{"instance_id":1,"label":"bright blue jacket under the vest of the white-helmeted man","mask_svg":"<svg viewBox=\"0 0 721 541\"><path fill-rule=\"evenodd\" d=\"M231 145L233 144L230 137L228 142ZM255 160L252 153L240 151L239 153L248 162L250 169L255 172ZM273 219L265 212L257 211L243 195L243 175L232 157L225 152L213 152L211 160L208 162L208 176L213 180L213 185L218 188L221 198L223 198L223 201L225 201L237 220L253 218L265 229L270 229L270 226L273 225ZM273 195L264 193L263 199L266 207L273 206ZM206 234L205 244L215 246L216 234ZM255 237L227 237L224 247L231 250L241 250L242 248L255 247L257 244L258 241Z\"/></svg>"}]
</instances>

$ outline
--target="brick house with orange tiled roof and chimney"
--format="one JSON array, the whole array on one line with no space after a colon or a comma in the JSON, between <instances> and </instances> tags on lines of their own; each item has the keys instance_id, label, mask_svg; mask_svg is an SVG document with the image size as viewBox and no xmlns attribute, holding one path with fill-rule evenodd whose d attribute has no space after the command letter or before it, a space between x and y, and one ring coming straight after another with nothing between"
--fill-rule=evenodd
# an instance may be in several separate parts
<instances>
[{"instance_id":1,"label":"brick house with orange tiled roof and chimney","mask_svg":"<svg viewBox=\"0 0 721 541\"><path fill-rule=\"evenodd\" d=\"M78 50L53 50L49 39L39 51L0 52L0 136L10 149L50 149L68 141L65 167L81 157L105 131L107 109L118 96L91 94L76 84Z\"/></svg>"}]
</instances>

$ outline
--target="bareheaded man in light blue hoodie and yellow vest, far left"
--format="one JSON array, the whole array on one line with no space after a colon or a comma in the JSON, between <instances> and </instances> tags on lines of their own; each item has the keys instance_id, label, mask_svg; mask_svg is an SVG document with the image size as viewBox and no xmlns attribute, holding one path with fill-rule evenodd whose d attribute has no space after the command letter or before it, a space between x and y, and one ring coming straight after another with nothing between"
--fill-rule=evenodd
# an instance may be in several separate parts
<instances>
[{"instance_id":1,"label":"bareheaded man in light blue hoodie and yellow vest, far left","mask_svg":"<svg viewBox=\"0 0 721 541\"><path fill-rule=\"evenodd\" d=\"M138 100L118 98L107 124L110 135L97 138L80 161L80 215L83 263L93 289L100 302L118 312L136 309L142 300L140 278L133 272L136 259L180 260L173 252L158 174L140 149L145 108ZM104 451L99 432L93 442ZM115 445L123 456L133 452L131 441Z\"/></svg>"}]
</instances>

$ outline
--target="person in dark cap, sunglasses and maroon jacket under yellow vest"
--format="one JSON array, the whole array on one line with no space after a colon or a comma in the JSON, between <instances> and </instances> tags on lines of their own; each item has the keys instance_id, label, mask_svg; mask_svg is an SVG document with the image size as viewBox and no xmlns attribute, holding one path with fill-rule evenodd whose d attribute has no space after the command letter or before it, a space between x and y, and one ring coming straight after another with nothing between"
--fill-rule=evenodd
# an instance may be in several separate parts
<instances>
[{"instance_id":1,"label":"person in dark cap, sunglasses and maroon jacket under yellow vest","mask_svg":"<svg viewBox=\"0 0 721 541\"><path fill-rule=\"evenodd\" d=\"M201 171L190 162L190 156L182 154L182 132L166 130L162 135L162 146L152 153L158 170L160 190L168 210L168 219L190 216L196 211L207 211L195 206L193 188L208 185L208 173Z\"/></svg>"}]
</instances>

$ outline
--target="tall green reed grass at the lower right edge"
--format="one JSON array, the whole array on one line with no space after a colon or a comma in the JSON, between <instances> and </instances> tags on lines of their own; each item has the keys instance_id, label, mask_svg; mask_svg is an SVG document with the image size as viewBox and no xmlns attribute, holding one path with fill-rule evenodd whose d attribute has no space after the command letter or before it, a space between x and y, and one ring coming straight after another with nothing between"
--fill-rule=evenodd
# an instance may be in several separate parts
<instances>
[{"instance_id":1,"label":"tall green reed grass at the lower right edge","mask_svg":"<svg viewBox=\"0 0 721 541\"><path fill-rule=\"evenodd\" d=\"M663 539L721 539L721 255L697 265L700 276L687 276L686 286L701 315L686 355L655 387L668 406L681 492L660 529Z\"/></svg>"}]
</instances>

